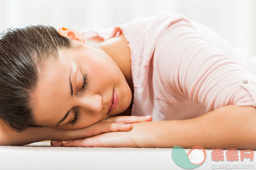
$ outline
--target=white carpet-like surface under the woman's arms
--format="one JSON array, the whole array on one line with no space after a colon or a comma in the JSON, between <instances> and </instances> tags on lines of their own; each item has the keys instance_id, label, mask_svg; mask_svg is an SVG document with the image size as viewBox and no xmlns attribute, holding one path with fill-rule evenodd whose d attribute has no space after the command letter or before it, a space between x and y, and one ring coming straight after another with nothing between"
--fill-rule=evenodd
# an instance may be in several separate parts
<instances>
[{"instance_id":1,"label":"white carpet-like surface under the woman's arms","mask_svg":"<svg viewBox=\"0 0 256 170\"><path fill-rule=\"evenodd\" d=\"M171 150L172 148L52 147L50 141L45 140L23 146L0 146L0 169L183 169L173 161ZM185 150L188 152L189 149ZM239 161L226 161L224 157L224 161L216 162L211 157L212 149L206 150L205 162L195 169L213 169L212 164L253 164L256 168L255 159L241 161L239 154Z\"/></svg>"}]
</instances>

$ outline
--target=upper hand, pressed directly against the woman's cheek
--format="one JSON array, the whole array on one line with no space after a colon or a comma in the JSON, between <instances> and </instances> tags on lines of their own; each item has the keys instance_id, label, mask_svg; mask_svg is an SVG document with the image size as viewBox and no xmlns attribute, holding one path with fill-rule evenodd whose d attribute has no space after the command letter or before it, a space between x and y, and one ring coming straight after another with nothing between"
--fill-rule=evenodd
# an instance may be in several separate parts
<instances>
[{"instance_id":1,"label":"upper hand, pressed directly against the woman's cheek","mask_svg":"<svg viewBox=\"0 0 256 170\"><path fill-rule=\"evenodd\" d=\"M53 137L54 140L73 140L88 138L101 133L106 132L116 132L116 131L129 131L132 129L132 125L125 126L126 123L137 123L152 121L152 117L145 116L111 116L107 117L97 123L81 129L70 129L70 130L60 130L56 136ZM51 146L59 146L62 141L52 142Z\"/></svg>"}]
</instances>

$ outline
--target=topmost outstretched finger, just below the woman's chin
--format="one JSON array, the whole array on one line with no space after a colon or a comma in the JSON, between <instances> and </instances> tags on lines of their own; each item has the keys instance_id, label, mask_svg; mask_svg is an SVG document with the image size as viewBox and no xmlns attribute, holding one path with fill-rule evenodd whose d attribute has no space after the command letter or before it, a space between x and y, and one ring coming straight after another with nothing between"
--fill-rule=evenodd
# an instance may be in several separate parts
<instances>
[{"instance_id":1,"label":"topmost outstretched finger, just below the woman's chin","mask_svg":"<svg viewBox=\"0 0 256 170\"><path fill-rule=\"evenodd\" d=\"M111 116L102 120L101 122L116 122L116 123L138 123L152 121L152 116Z\"/></svg>"}]
</instances>

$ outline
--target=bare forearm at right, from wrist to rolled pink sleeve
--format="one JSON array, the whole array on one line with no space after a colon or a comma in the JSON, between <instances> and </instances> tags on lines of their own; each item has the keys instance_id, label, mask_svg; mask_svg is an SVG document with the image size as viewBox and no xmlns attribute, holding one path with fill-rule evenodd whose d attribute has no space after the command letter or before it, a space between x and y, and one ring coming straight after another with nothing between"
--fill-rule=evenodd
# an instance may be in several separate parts
<instances>
[{"instance_id":1,"label":"bare forearm at right, from wrist to rolled pink sleeve","mask_svg":"<svg viewBox=\"0 0 256 170\"><path fill-rule=\"evenodd\" d=\"M256 149L255 121L256 108L228 105L194 119L143 122L133 130L139 132L138 147Z\"/></svg>"}]
</instances>

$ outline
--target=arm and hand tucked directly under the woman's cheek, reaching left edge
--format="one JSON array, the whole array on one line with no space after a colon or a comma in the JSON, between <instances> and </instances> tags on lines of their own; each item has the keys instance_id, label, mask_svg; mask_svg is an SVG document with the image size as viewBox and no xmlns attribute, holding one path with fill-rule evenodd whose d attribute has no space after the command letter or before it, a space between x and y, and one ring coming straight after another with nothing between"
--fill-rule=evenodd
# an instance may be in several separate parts
<instances>
[{"instance_id":1,"label":"arm and hand tucked directly under the woman's cheek, reaching left edge","mask_svg":"<svg viewBox=\"0 0 256 170\"><path fill-rule=\"evenodd\" d=\"M0 119L0 145L23 145L42 140L71 140L91 137L110 131L127 131L132 126L127 123L151 121L144 116L110 116L90 126L80 129L58 129L52 127L29 127L16 132Z\"/></svg>"}]
</instances>

